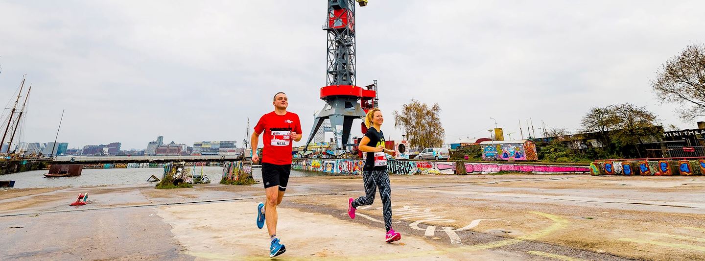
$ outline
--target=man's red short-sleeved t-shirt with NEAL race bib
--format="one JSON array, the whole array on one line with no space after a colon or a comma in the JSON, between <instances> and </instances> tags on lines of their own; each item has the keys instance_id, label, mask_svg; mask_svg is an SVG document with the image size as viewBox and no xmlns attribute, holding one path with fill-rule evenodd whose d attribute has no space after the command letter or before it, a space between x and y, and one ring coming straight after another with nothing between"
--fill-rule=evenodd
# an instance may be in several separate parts
<instances>
[{"instance_id":1,"label":"man's red short-sleeved t-shirt with NEAL race bib","mask_svg":"<svg viewBox=\"0 0 705 261\"><path fill-rule=\"evenodd\" d=\"M299 116L287 111L284 115L277 115L274 111L264 114L259 118L255 132L262 134L262 162L276 165L291 164L291 147L293 139L291 132L301 134Z\"/></svg>"}]
</instances>

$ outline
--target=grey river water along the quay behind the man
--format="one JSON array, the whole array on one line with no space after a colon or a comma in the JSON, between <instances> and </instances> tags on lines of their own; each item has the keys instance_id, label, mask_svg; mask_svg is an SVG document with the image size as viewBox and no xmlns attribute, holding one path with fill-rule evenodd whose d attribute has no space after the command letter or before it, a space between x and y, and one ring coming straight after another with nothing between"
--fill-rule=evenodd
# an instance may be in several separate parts
<instances>
[{"instance_id":1,"label":"grey river water along the quay behind the man","mask_svg":"<svg viewBox=\"0 0 705 261\"><path fill-rule=\"evenodd\" d=\"M196 174L203 174L211 179L212 183L218 183L223 176L223 168L219 166L204 166L202 169L197 166ZM123 185L123 184L155 184L147 182L147 179L154 175L161 178L164 169L162 168L140 168L140 169L83 169L81 176L45 178L43 174L47 169L38 171L26 171L16 174L0 175L1 181L16 181L15 188L50 188L62 186L103 186L103 185ZM324 176L323 173L291 170L291 176ZM252 169L252 176L257 181L262 181L262 169Z\"/></svg>"}]
</instances>

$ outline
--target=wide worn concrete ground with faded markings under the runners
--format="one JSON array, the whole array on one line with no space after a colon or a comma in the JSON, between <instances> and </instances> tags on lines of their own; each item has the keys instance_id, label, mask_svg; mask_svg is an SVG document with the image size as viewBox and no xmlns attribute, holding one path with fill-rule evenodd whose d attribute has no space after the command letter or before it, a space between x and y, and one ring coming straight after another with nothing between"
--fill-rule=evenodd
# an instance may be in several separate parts
<instances>
[{"instance_id":1,"label":"wide worn concrete ground with faded markings under the runners","mask_svg":"<svg viewBox=\"0 0 705 261\"><path fill-rule=\"evenodd\" d=\"M347 216L360 176L291 178L278 260L705 260L705 176L393 176ZM269 260L261 184L0 190L0 260ZM90 204L70 207L78 193Z\"/></svg>"}]
</instances>

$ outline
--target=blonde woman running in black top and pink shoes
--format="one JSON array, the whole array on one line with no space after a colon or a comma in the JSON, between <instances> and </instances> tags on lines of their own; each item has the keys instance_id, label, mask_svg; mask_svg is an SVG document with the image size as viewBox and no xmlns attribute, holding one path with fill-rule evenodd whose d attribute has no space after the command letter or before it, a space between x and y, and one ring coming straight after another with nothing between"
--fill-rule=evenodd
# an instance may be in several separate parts
<instances>
[{"instance_id":1,"label":"blonde woman running in black top and pink shoes","mask_svg":"<svg viewBox=\"0 0 705 261\"><path fill-rule=\"evenodd\" d=\"M357 198L357 200L353 198L348 200L348 214L351 219L355 219L355 208L372 205L372 202L374 202L374 191L379 187L379 196L382 198L384 226L387 229L385 241L386 243L392 243L401 239L401 235L392 229L391 188L389 186L385 153L393 156L396 152L384 148L384 133L381 130L383 122L382 111L376 108L367 112L367 116L364 118L364 124L369 128L360 141L360 150L367 152L367 160L364 162L364 169L362 170L365 195Z\"/></svg>"}]
</instances>

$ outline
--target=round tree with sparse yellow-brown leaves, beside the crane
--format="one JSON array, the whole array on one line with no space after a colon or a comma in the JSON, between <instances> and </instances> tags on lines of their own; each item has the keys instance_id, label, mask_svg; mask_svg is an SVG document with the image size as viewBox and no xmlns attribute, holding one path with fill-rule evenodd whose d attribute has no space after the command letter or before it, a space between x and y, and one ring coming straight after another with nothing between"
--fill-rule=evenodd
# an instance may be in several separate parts
<instances>
[{"instance_id":1,"label":"round tree with sparse yellow-brown leaves, beside the crane","mask_svg":"<svg viewBox=\"0 0 705 261\"><path fill-rule=\"evenodd\" d=\"M441 125L441 107L433 106L411 99L404 104L401 111L394 111L394 127L407 135L410 146L423 149L425 147L441 147L446 136L446 130Z\"/></svg>"}]
</instances>

